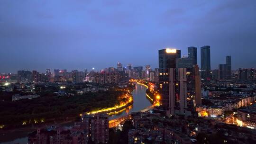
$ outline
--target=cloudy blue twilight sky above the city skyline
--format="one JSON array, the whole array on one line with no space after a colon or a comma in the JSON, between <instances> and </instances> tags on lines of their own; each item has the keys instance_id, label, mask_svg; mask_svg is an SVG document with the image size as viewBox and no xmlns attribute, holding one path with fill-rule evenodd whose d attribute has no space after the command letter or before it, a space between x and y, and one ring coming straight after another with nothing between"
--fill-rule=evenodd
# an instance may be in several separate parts
<instances>
[{"instance_id":1,"label":"cloudy blue twilight sky above the city skyline","mask_svg":"<svg viewBox=\"0 0 256 144\"><path fill-rule=\"evenodd\" d=\"M0 72L158 67L211 46L211 67L256 67L256 0L0 0ZM200 64L199 64L200 65Z\"/></svg>"}]
</instances>

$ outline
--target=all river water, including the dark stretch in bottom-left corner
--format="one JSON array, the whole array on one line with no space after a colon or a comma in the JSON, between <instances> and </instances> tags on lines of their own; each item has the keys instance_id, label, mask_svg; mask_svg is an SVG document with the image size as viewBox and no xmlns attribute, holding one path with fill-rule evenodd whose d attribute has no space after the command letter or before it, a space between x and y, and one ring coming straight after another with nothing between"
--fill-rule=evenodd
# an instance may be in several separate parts
<instances>
[{"instance_id":1,"label":"all river water, including the dark stretch in bottom-left corner","mask_svg":"<svg viewBox=\"0 0 256 144\"><path fill-rule=\"evenodd\" d=\"M133 105L129 108L124 108L120 113L110 116L111 119L126 116L132 112L138 112L144 108L151 106L152 104L146 99L146 87L140 84L136 84L135 90L132 91ZM73 124L72 124L73 125ZM8 134L0 134L0 144L27 144L27 134L31 130L27 131L15 131Z\"/></svg>"}]
</instances>

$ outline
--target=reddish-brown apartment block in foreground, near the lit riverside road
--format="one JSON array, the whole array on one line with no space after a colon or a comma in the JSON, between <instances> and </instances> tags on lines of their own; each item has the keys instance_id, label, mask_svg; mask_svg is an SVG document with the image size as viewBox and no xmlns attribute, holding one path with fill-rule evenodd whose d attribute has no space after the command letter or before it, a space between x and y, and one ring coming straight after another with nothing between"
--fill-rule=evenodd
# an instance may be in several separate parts
<instances>
[{"instance_id":1,"label":"reddish-brown apartment block in foreground, near the lit riverside road","mask_svg":"<svg viewBox=\"0 0 256 144\"><path fill-rule=\"evenodd\" d=\"M107 115L85 115L82 126L88 135L88 140L95 144L107 144L109 141L109 117Z\"/></svg>"}]
</instances>

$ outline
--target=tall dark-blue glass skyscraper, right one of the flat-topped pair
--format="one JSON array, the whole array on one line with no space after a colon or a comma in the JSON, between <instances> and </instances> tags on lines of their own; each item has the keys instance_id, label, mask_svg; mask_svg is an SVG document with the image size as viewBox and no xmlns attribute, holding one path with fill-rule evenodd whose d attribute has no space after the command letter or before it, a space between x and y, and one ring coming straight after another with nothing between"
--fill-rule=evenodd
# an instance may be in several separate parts
<instances>
[{"instance_id":1,"label":"tall dark-blue glass skyscraper, right one of the flat-topped pair","mask_svg":"<svg viewBox=\"0 0 256 144\"><path fill-rule=\"evenodd\" d=\"M204 86L210 86L210 46L201 47L201 82Z\"/></svg>"}]
</instances>

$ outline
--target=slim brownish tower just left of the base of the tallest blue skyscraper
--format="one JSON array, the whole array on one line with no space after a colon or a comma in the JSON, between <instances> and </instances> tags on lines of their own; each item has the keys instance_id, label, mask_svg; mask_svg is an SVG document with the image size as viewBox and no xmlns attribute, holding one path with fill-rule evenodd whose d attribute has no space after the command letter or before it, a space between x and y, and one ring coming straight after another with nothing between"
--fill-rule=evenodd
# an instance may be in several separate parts
<instances>
[{"instance_id":1,"label":"slim brownish tower just left of the base of the tallest blue skyscraper","mask_svg":"<svg viewBox=\"0 0 256 144\"><path fill-rule=\"evenodd\" d=\"M195 73L195 103L197 106L202 104L201 99L201 78L199 73L199 66L196 64L194 68Z\"/></svg>"}]
</instances>

